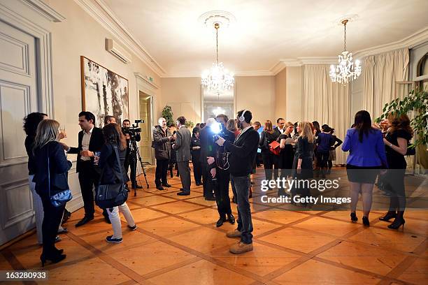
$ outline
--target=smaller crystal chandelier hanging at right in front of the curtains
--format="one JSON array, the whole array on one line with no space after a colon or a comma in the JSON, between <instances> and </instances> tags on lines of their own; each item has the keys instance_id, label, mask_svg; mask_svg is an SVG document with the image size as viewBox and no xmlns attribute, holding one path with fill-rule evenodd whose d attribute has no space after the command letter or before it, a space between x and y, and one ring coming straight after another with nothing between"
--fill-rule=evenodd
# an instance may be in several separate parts
<instances>
[{"instance_id":1,"label":"smaller crystal chandelier hanging at right in front of the curtains","mask_svg":"<svg viewBox=\"0 0 428 285\"><path fill-rule=\"evenodd\" d=\"M359 60L355 61L355 64L352 62L352 52L346 50L346 23L349 20L343 20L342 24L345 27L344 34L344 49L342 54L338 55L338 65L336 68L334 65L330 66L330 78L332 82L339 82L346 84L354 79L357 79L361 74L361 66L359 65Z\"/></svg>"}]
</instances>

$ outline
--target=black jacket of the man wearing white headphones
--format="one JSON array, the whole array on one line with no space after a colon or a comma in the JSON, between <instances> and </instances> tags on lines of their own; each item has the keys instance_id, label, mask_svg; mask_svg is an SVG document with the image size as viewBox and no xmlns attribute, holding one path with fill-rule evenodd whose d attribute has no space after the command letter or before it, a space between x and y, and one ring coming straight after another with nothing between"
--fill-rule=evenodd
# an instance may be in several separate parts
<instances>
[{"instance_id":1,"label":"black jacket of the man wearing white headphones","mask_svg":"<svg viewBox=\"0 0 428 285\"><path fill-rule=\"evenodd\" d=\"M235 142L224 142L224 147L230 152L229 171L234 176L247 176L252 172L252 163L255 161L257 147L259 145L259 133L250 127L241 133Z\"/></svg>"}]
</instances>

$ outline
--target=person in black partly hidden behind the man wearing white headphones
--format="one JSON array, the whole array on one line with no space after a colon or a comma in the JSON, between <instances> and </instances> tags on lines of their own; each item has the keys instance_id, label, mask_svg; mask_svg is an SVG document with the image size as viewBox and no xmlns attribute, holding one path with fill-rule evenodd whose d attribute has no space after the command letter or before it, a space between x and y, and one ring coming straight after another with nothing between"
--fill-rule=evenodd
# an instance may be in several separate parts
<instances>
[{"instance_id":1,"label":"person in black partly hidden behind the man wearing white headphones","mask_svg":"<svg viewBox=\"0 0 428 285\"><path fill-rule=\"evenodd\" d=\"M227 115L223 114L217 115L217 117L215 118L218 123L217 126L220 126L220 130L217 133L217 136L233 143L235 140L235 134L226 129L228 119L229 118L227 117ZM214 193L215 201L217 203L218 214L220 214L220 218L218 219L216 226L219 227L222 226L224 221L229 221L230 224L235 224L235 217L231 212L229 198L229 153L224 149L224 147L220 147L218 145L214 146L214 163L216 165L215 178L217 178L217 183L214 184ZM210 159L210 161L212 161L212 159Z\"/></svg>"}]
</instances>

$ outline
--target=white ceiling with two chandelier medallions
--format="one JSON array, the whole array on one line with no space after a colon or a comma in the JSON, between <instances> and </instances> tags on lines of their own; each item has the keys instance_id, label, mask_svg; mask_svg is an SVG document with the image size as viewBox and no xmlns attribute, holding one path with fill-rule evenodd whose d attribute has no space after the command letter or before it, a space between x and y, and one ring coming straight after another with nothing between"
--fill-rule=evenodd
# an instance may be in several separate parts
<instances>
[{"instance_id":1,"label":"white ceiling with two chandelier medallions","mask_svg":"<svg viewBox=\"0 0 428 285\"><path fill-rule=\"evenodd\" d=\"M428 27L427 0L97 0L164 69L165 76L199 75L215 59L215 34L198 22L226 10L236 23L219 32L219 60L239 73L269 72L280 59L336 57L343 50L338 19L351 52L385 45Z\"/></svg>"}]
</instances>

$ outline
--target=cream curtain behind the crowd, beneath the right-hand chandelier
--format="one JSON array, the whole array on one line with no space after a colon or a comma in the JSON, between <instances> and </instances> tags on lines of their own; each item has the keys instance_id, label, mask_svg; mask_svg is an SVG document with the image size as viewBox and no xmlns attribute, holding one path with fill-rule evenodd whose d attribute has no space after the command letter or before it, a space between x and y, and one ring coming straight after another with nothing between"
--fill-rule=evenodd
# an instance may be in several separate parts
<instances>
[{"instance_id":1,"label":"cream curtain behind the crowd, beneath the right-hand chandelier","mask_svg":"<svg viewBox=\"0 0 428 285\"><path fill-rule=\"evenodd\" d=\"M350 128L349 86L331 82L328 65L304 66L304 120L328 124L334 134L343 140ZM335 164L345 164L346 155L336 149Z\"/></svg>"}]
</instances>

